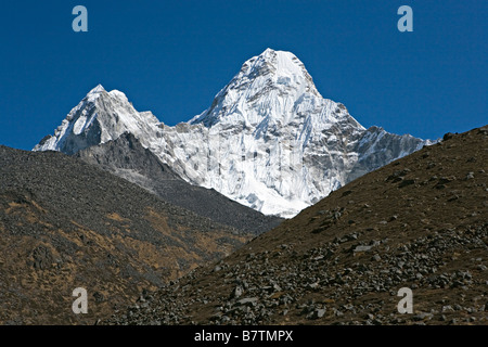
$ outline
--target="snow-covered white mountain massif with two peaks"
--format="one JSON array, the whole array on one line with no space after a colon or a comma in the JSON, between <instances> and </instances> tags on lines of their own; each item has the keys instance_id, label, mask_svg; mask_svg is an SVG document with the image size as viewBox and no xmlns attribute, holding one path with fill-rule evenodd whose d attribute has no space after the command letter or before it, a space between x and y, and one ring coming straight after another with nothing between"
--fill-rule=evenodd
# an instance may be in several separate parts
<instances>
[{"instance_id":1,"label":"snow-covered white mountain massif with two peaks","mask_svg":"<svg viewBox=\"0 0 488 347\"><path fill-rule=\"evenodd\" d=\"M294 54L267 49L188 123L166 126L99 86L35 150L72 154L125 131L187 181L281 217L429 143L364 129L343 104L321 97Z\"/></svg>"}]
</instances>

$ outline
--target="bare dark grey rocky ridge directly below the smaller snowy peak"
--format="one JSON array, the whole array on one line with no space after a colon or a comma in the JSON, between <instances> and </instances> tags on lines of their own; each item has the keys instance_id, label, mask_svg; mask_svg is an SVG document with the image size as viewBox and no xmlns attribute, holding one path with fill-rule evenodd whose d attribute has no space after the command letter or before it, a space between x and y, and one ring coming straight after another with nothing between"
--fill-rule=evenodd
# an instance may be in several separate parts
<instances>
[{"instance_id":1,"label":"bare dark grey rocky ridge directly below the smaller snowy peak","mask_svg":"<svg viewBox=\"0 0 488 347\"><path fill-rule=\"evenodd\" d=\"M75 156L137 183L168 203L245 232L257 235L283 221L243 206L213 189L185 182L128 132L79 151Z\"/></svg>"}]
</instances>

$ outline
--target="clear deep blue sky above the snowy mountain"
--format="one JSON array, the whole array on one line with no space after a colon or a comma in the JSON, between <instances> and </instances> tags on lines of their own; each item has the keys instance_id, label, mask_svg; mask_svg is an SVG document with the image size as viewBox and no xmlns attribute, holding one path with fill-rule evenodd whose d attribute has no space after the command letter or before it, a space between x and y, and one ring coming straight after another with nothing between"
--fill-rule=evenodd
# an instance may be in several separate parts
<instances>
[{"instance_id":1,"label":"clear deep blue sky above the snowy mountain","mask_svg":"<svg viewBox=\"0 0 488 347\"><path fill-rule=\"evenodd\" d=\"M88 9L88 33L72 10ZM397 10L413 9L413 33ZM175 125L244 61L295 53L363 126L438 138L488 124L488 1L9 1L0 8L0 144L30 150L98 83Z\"/></svg>"}]
</instances>

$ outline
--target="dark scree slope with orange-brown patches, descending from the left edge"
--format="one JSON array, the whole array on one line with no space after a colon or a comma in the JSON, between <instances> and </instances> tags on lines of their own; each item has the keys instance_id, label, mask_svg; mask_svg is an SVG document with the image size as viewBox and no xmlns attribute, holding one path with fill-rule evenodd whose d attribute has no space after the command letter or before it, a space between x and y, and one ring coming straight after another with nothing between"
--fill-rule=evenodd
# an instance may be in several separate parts
<instances>
[{"instance_id":1,"label":"dark scree slope with orange-brown patches, descending from the left edge","mask_svg":"<svg viewBox=\"0 0 488 347\"><path fill-rule=\"evenodd\" d=\"M251 237L64 154L0 146L0 324L93 324Z\"/></svg>"}]
</instances>

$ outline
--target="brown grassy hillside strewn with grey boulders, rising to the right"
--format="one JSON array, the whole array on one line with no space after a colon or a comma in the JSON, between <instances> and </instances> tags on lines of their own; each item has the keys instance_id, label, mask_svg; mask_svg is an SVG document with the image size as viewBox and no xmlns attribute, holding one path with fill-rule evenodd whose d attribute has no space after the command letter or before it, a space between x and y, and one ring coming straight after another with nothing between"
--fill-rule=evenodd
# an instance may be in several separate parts
<instances>
[{"instance_id":1,"label":"brown grassy hillside strewn with grey boulders, rising to the right","mask_svg":"<svg viewBox=\"0 0 488 347\"><path fill-rule=\"evenodd\" d=\"M107 323L487 324L487 183L488 126L447 134Z\"/></svg>"}]
</instances>

